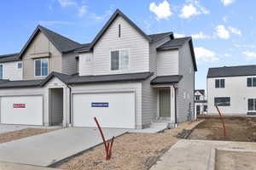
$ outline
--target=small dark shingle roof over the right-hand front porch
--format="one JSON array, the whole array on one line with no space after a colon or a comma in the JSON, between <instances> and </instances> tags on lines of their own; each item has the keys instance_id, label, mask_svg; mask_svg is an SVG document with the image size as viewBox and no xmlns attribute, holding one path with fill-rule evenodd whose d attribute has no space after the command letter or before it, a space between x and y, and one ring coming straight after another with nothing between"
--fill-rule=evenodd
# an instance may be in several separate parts
<instances>
[{"instance_id":1,"label":"small dark shingle roof over the right-hand front porch","mask_svg":"<svg viewBox=\"0 0 256 170\"><path fill-rule=\"evenodd\" d=\"M172 76L162 76L155 77L150 83L151 84L173 84L179 82L183 76L181 75L172 75Z\"/></svg>"}]
</instances>

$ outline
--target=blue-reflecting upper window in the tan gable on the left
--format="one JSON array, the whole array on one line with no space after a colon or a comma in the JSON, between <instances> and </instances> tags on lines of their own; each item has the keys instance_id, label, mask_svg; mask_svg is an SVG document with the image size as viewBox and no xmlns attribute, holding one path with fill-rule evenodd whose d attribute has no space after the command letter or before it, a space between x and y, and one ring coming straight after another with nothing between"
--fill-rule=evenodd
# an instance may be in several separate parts
<instances>
[{"instance_id":1,"label":"blue-reflecting upper window in the tan gable on the left","mask_svg":"<svg viewBox=\"0 0 256 170\"><path fill-rule=\"evenodd\" d=\"M35 77L48 75L48 59L35 59Z\"/></svg>"}]
</instances>

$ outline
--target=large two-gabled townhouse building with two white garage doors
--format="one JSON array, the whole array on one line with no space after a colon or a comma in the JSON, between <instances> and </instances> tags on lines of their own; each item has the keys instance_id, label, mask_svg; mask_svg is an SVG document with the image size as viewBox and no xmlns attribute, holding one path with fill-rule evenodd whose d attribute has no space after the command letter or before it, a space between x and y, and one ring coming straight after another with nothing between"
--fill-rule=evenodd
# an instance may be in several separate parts
<instances>
[{"instance_id":1,"label":"large two-gabled townhouse building with two white garage doors","mask_svg":"<svg viewBox=\"0 0 256 170\"><path fill-rule=\"evenodd\" d=\"M1 123L95 127L96 116L102 127L144 128L194 118L191 37L147 35L119 9L90 43L38 26L19 54L2 58L22 69L2 71Z\"/></svg>"}]
</instances>

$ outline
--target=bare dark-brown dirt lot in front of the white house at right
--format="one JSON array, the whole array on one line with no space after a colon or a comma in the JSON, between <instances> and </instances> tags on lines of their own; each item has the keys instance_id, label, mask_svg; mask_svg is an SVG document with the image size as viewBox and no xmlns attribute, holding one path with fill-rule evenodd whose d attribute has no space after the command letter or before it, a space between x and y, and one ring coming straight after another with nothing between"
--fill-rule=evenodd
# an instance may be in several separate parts
<instances>
[{"instance_id":1,"label":"bare dark-brown dirt lot in front of the white house at right","mask_svg":"<svg viewBox=\"0 0 256 170\"><path fill-rule=\"evenodd\" d=\"M188 139L231 140L256 142L256 117L225 116L226 138L221 120L217 116L204 117L205 122L197 126Z\"/></svg>"}]
</instances>

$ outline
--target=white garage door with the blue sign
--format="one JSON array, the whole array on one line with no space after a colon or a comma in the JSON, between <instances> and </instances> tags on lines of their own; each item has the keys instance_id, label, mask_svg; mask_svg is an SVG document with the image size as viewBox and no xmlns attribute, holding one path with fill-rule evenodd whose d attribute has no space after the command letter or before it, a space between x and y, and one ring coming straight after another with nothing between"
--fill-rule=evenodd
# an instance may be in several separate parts
<instances>
[{"instance_id":1,"label":"white garage door with the blue sign","mask_svg":"<svg viewBox=\"0 0 256 170\"><path fill-rule=\"evenodd\" d=\"M135 128L134 93L73 94L73 125Z\"/></svg>"}]
</instances>

